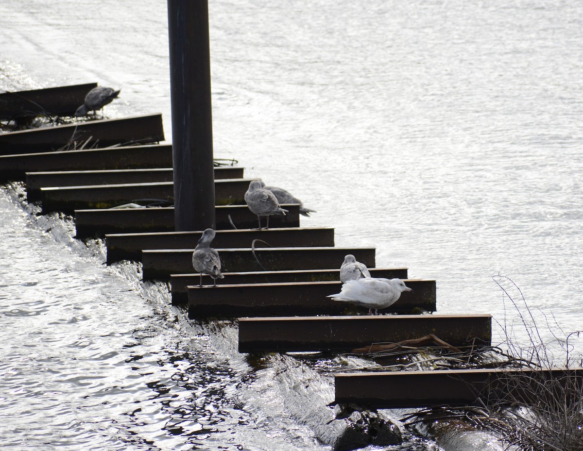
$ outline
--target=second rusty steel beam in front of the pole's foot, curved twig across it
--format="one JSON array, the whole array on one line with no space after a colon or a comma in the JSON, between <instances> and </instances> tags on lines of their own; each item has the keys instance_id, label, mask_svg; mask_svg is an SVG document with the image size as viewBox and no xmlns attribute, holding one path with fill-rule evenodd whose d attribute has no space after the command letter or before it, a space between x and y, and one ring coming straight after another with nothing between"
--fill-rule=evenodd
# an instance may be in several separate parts
<instances>
[{"instance_id":1,"label":"second rusty steel beam in front of the pole's foot, curved twig across it","mask_svg":"<svg viewBox=\"0 0 583 451\"><path fill-rule=\"evenodd\" d=\"M287 208L287 207L286 207ZM142 251L143 279L170 280L170 274L192 273L191 249L145 249ZM359 262L374 267L375 248L251 248L217 249L223 271L236 273L252 270L328 269L340 267L347 253ZM259 266L259 263L263 266Z\"/></svg>"}]
</instances>

